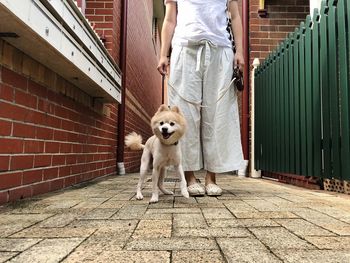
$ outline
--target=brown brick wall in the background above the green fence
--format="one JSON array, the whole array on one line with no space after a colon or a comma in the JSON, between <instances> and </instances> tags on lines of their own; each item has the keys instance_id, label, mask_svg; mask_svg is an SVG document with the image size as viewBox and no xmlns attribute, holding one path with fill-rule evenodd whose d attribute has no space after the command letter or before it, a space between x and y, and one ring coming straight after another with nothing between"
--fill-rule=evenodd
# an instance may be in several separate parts
<instances>
[{"instance_id":1,"label":"brown brick wall in the background above the green fence","mask_svg":"<svg viewBox=\"0 0 350 263\"><path fill-rule=\"evenodd\" d=\"M309 0L266 0L267 17L258 15L259 0L249 1L250 64L263 60L309 14Z\"/></svg>"}]
</instances>

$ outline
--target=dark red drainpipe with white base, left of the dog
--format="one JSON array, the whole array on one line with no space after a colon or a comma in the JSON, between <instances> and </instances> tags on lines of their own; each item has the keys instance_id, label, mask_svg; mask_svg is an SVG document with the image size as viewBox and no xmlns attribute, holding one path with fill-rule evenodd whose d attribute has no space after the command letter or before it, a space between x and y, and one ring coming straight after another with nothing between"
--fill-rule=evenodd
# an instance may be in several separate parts
<instances>
[{"instance_id":1,"label":"dark red drainpipe with white base, left of the dog","mask_svg":"<svg viewBox=\"0 0 350 263\"><path fill-rule=\"evenodd\" d=\"M117 169L118 174L125 174L124 167L124 137L125 137L125 97L126 97L126 49L128 26L128 0L122 1L120 69L122 72L121 103L118 105L118 138L117 138Z\"/></svg>"}]
</instances>

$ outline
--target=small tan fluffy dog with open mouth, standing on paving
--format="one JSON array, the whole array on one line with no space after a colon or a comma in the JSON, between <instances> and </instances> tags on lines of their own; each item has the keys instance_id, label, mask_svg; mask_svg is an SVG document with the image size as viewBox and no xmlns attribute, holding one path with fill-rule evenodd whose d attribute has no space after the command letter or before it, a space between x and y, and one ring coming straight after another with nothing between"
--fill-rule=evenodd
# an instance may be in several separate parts
<instances>
[{"instance_id":1,"label":"small tan fluffy dog with open mouth, standing on paving","mask_svg":"<svg viewBox=\"0 0 350 263\"><path fill-rule=\"evenodd\" d=\"M158 202L158 188L164 194L173 194L163 187L163 180L166 167L173 165L181 179L180 188L184 197L188 198L187 184L181 165L181 150L179 139L186 130L186 120L178 107L171 109L161 105L151 120L151 127L154 135L150 137L145 145L142 144L142 137L135 132L125 138L125 145L132 150L143 149L140 167L140 180L137 184L136 199L143 199L141 193L142 185L149 167L152 170L152 197L150 202ZM166 132L164 132L164 129ZM165 134L165 135L164 135ZM153 160L151 165L150 160Z\"/></svg>"}]
</instances>

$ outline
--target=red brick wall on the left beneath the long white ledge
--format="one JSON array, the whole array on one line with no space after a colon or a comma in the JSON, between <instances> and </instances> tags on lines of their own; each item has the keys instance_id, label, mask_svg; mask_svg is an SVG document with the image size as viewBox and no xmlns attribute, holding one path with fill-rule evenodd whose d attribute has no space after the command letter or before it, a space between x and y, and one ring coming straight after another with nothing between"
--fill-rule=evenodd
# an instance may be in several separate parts
<instances>
[{"instance_id":1,"label":"red brick wall on the left beneath the long white ledge","mask_svg":"<svg viewBox=\"0 0 350 263\"><path fill-rule=\"evenodd\" d=\"M0 204L116 173L113 105L0 40Z\"/></svg>"}]
</instances>

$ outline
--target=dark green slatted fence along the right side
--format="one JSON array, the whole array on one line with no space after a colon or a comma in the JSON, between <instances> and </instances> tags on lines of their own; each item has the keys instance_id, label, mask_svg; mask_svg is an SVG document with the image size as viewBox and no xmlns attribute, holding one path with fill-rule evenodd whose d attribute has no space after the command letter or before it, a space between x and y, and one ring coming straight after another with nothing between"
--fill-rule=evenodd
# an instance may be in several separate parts
<instances>
[{"instance_id":1,"label":"dark green slatted fence along the right side","mask_svg":"<svg viewBox=\"0 0 350 263\"><path fill-rule=\"evenodd\" d=\"M255 71L255 166L350 179L350 1L323 1Z\"/></svg>"}]
</instances>

